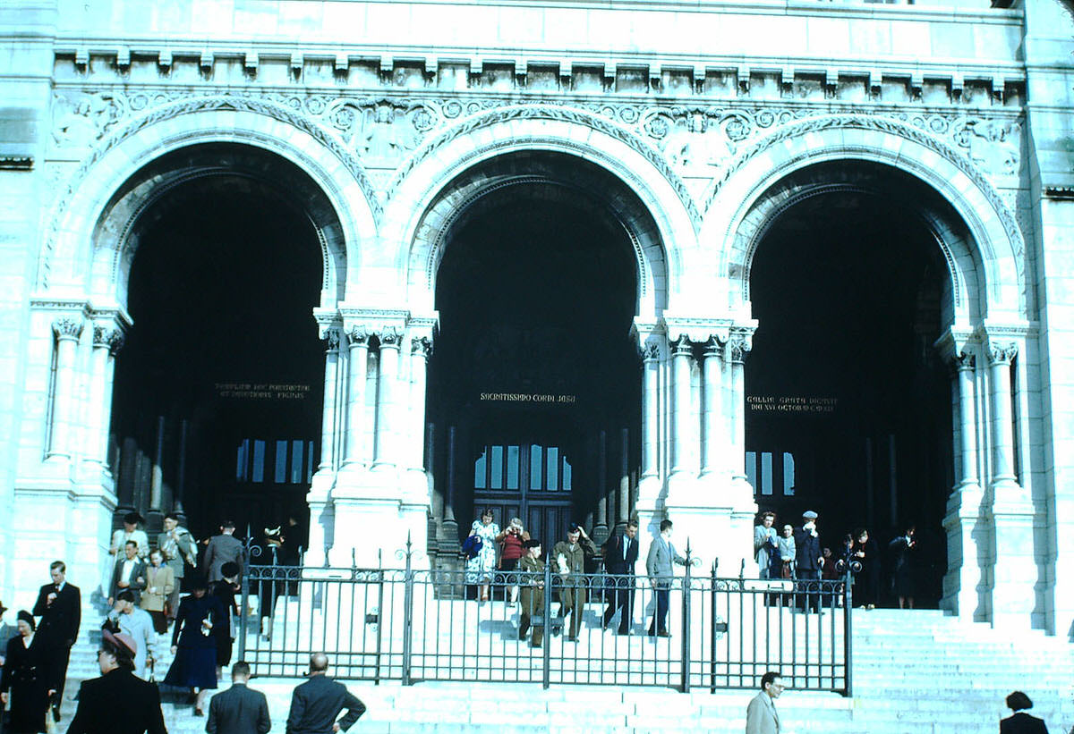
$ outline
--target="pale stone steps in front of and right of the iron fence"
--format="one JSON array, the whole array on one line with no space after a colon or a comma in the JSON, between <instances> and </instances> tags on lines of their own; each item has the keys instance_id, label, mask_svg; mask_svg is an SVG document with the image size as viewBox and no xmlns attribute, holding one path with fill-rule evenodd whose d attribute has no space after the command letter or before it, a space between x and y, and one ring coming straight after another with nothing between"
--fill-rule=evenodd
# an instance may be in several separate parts
<instances>
[{"instance_id":1,"label":"pale stone steps in front of and right of the iron fence","mask_svg":"<svg viewBox=\"0 0 1074 734\"><path fill-rule=\"evenodd\" d=\"M78 681L98 674L97 640L87 634L72 654L64 722ZM92 638L90 638L92 637ZM158 679L171 662L161 640ZM1003 699L1026 691L1053 734L1074 728L1074 655L1065 640L1041 632L1012 634L942 612L875 610L854 614L853 698L787 690L778 702L783 732L802 734L995 734L1010 711ZM224 673L224 682L228 682ZM274 732L284 731L296 678L258 678L268 698ZM361 732L742 732L754 691L535 684L348 682L368 713ZM182 694L165 691L172 734L203 732Z\"/></svg>"}]
</instances>

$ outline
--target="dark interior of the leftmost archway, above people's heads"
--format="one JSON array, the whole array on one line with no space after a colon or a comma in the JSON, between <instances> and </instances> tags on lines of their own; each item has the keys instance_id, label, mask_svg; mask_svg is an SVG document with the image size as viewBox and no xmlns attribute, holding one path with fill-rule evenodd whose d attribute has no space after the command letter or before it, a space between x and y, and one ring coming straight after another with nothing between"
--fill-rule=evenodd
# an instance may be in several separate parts
<instances>
[{"instance_id":1,"label":"dark interior of the leftmost archway, above people's heads","mask_svg":"<svg viewBox=\"0 0 1074 734\"><path fill-rule=\"evenodd\" d=\"M241 176L180 185L154 206L116 364L120 511L140 510L151 531L160 517L150 511L182 508L201 538L226 516L243 534L293 515L296 547L323 401L317 234L285 196Z\"/></svg>"}]
</instances>

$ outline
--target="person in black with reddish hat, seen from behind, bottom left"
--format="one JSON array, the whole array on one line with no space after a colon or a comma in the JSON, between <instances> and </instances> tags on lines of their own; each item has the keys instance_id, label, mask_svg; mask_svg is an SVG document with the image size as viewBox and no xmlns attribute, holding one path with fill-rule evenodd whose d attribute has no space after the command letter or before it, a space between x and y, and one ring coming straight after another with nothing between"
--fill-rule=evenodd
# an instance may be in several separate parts
<instances>
[{"instance_id":1,"label":"person in black with reddish hat, seen from behind, bottom left","mask_svg":"<svg viewBox=\"0 0 1074 734\"><path fill-rule=\"evenodd\" d=\"M168 734L157 687L134 675L134 641L102 633L100 678L82 684L68 734Z\"/></svg>"}]
</instances>

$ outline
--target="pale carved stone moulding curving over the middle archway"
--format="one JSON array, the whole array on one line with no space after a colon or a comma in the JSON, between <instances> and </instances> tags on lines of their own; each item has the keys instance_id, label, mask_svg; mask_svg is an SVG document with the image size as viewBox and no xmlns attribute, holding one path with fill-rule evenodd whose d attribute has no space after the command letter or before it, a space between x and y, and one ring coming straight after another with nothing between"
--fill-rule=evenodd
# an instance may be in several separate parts
<instances>
[{"instance_id":1,"label":"pale carved stone moulding curving over the middle archway","mask_svg":"<svg viewBox=\"0 0 1074 734\"><path fill-rule=\"evenodd\" d=\"M526 114L505 114L516 109ZM664 172L650 156L639 151L644 143L628 145L624 136L630 136L629 132L616 129L616 134L610 134L604 127L611 123L600 120L600 126L589 127L589 118L585 113L560 107L495 111L460 123L415 152L393 182L381 241L381 263L396 274L395 287L403 290L411 284L407 293L411 309L432 309L435 279L421 278L409 269L417 266L424 274L430 259L436 258L438 244L430 233L440 231L451 210L463 206L473 193L467 187L451 192L450 184L493 158L525 151L565 153L599 166L640 200L656 231L634 234L659 244L666 261L667 282L652 283L649 292L664 291L673 303L681 275L697 256L696 207L692 200L684 201L683 195L688 194L677 186L681 181L666 175L673 173ZM480 172L476 174L477 188L481 176ZM656 274L665 268L652 261L656 253L651 246L641 249L645 253L645 271L658 277ZM373 256L363 253L364 262ZM424 285L416 289L415 283Z\"/></svg>"}]
</instances>

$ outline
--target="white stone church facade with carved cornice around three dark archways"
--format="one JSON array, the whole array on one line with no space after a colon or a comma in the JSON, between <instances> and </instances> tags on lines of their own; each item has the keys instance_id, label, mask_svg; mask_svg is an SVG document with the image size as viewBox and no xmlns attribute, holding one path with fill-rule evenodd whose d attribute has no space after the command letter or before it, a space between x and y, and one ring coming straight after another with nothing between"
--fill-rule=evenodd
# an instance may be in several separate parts
<instances>
[{"instance_id":1,"label":"white stone church facade with carved cornice around three dark archways","mask_svg":"<svg viewBox=\"0 0 1074 734\"><path fill-rule=\"evenodd\" d=\"M957 364L944 603L1069 634L1074 20L1058 0L997 4L1013 6L4 3L0 598L25 600L54 557L97 577L137 217L178 178L211 174L151 170L162 156L230 144L290 161L317 189L315 563L320 548L372 562L408 534L426 542L440 247L463 204L499 182L474 172L551 151L610 173L647 210L616 211L640 275L634 509L645 524L672 516L735 570L756 511L742 466L753 252L798 193L788 177L845 160L918 179L960 220L919 212L949 268L940 343ZM376 371L358 379L371 347Z\"/></svg>"}]
</instances>

